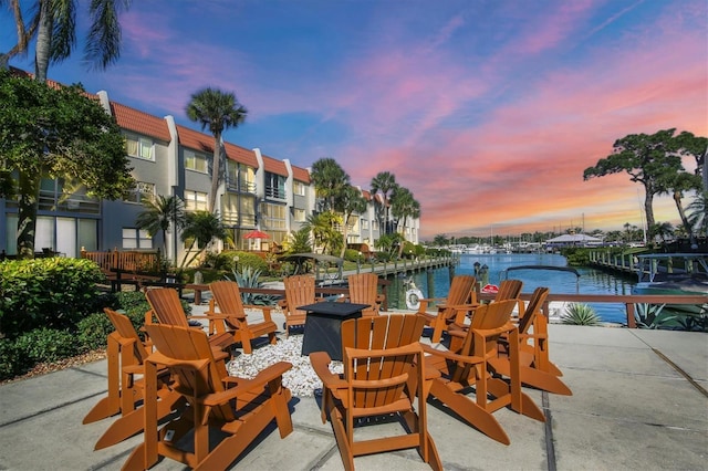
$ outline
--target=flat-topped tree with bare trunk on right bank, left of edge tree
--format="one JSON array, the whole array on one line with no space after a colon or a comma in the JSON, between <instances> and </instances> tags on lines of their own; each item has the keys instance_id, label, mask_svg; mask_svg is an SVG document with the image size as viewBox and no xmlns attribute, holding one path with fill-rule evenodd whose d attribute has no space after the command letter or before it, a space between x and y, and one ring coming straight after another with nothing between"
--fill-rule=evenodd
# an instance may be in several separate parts
<instances>
[{"instance_id":1,"label":"flat-topped tree with bare trunk on right bank, left of edge tree","mask_svg":"<svg viewBox=\"0 0 708 471\"><path fill-rule=\"evenodd\" d=\"M631 134L615 140L613 154L602 158L583 172L583 179L626 172L629 179L644 186L644 210L647 228L655 227L654 196L663 191L662 179L684 171L679 155L680 142L674 138L676 129L659 130L652 135Z\"/></svg>"}]
</instances>

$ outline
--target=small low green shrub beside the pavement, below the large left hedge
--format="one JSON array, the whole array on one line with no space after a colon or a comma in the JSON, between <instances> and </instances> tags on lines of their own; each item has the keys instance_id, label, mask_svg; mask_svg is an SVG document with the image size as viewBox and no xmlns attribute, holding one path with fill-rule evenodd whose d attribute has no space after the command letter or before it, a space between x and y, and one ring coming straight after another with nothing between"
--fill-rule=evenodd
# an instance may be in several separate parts
<instances>
[{"instance_id":1,"label":"small low green shrub beside the pavement, below the large left hedge","mask_svg":"<svg viewBox=\"0 0 708 471\"><path fill-rule=\"evenodd\" d=\"M31 364L58 362L80 353L73 334L54 328L35 328L20 335L15 348Z\"/></svg>"}]
</instances>

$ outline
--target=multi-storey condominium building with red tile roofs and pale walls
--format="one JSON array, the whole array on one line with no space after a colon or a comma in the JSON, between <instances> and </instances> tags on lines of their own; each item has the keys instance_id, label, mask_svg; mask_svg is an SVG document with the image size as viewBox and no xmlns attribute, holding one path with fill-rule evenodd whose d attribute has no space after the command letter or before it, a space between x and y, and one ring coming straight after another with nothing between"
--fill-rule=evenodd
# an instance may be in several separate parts
<instances>
[{"instance_id":1,"label":"multi-storey condominium building with red tile roofs and pale walls","mask_svg":"<svg viewBox=\"0 0 708 471\"><path fill-rule=\"evenodd\" d=\"M187 211L207 209L211 189L214 136L175 123L173 116L158 117L125 106L98 92L96 98L115 116L125 135L126 154L135 190L122 201L97 200L84 188L63 178L42 180L37 219L35 248L79 257L81 249L156 250L170 260L181 260L187 250L179 234L169 231L150 238L136 227L143 202L157 195L178 196ZM247 149L223 143L223 175L215 208L240 250L267 250L282 244L298 231L315 209L315 190L306 168L264 155L260 148ZM379 223L374 198L362 191L368 208L348 221L348 242L375 244ZM419 221L403 228L406 240L418 242ZM0 199L0 252L17 253L18 205ZM268 233L264 240L243 238L249 231ZM261 245L262 244L262 245Z\"/></svg>"}]
</instances>

